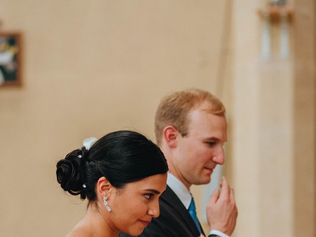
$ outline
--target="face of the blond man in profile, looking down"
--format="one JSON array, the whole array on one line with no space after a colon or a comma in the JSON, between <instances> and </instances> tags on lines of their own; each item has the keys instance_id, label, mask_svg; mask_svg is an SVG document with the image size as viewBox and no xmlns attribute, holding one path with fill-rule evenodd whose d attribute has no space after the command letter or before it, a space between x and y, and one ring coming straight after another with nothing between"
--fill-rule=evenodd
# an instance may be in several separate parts
<instances>
[{"instance_id":1,"label":"face of the blond man in profile, looking down","mask_svg":"<svg viewBox=\"0 0 316 237\"><path fill-rule=\"evenodd\" d=\"M172 161L175 172L171 170L171 173L188 188L192 184L209 183L215 166L224 163L226 118L204 111L206 105L201 105L189 113L188 134L184 137L178 136L176 156Z\"/></svg>"}]
</instances>

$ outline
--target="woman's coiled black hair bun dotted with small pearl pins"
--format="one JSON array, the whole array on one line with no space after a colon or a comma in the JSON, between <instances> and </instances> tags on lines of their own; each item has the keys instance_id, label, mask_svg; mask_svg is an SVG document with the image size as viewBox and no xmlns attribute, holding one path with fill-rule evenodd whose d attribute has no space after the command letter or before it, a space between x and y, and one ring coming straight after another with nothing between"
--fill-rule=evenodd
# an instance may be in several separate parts
<instances>
[{"instance_id":1,"label":"woman's coiled black hair bun dotted with small pearl pins","mask_svg":"<svg viewBox=\"0 0 316 237\"><path fill-rule=\"evenodd\" d=\"M79 195L81 199L85 198L83 185L83 175L81 163L82 159L80 150L69 153L65 159L57 162L56 176L57 182L61 188L71 195Z\"/></svg>"}]
</instances>

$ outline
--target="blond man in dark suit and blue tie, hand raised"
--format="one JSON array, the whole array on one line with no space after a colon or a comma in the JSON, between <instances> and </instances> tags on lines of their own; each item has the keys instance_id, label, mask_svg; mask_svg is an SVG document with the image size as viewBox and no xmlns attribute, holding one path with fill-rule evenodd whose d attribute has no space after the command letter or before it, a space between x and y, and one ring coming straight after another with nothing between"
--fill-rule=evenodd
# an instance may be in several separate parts
<instances>
[{"instance_id":1,"label":"blond man in dark suit and blue tie, hand raised","mask_svg":"<svg viewBox=\"0 0 316 237\"><path fill-rule=\"evenodd\" d=\"M160 196L160 215L140 237L204 236L197 220L192 185L208 184L217 164L224 163L227 122L222 102L207 91L175 92L160 102L155 118L158 146L168 161L166 191ZM234 190L223 177L206 207L208 237L229 237L237 220ZM120 237L127 237L121 233Z\"/></svg>"}]
</instances>

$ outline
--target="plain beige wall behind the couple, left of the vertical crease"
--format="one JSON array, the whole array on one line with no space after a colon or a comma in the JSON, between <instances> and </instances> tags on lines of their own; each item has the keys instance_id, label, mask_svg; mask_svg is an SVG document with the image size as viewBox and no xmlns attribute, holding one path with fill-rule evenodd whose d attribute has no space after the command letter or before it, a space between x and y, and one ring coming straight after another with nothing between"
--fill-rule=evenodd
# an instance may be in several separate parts
<instances>
[{"instance_id":1,"label":"plain beige wall behind the couple, left of the vertical crease","mask_svg":"<svg viewBox=\"0 0 316 237\"><path fill-rule=\"evenodd\" d=\"M55 163L84 138L122 128L154 139L169 91L214 93L224 1L1 0L23 33L21 88L0 90L0 232L63 236L84 213Z\"/></svg>"}]
</instances>

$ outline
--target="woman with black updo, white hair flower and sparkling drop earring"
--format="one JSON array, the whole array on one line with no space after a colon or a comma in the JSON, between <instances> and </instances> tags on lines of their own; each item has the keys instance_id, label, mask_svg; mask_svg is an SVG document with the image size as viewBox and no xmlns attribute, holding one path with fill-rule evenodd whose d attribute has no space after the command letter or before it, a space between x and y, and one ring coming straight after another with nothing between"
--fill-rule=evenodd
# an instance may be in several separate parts
<instances>
[{"instance_id":1,"label":"woman with black updo, white hair flower and sparkling drop earring","mask_svg":"<svg viewBox=\"0 0 316 237\"><path fill-rule=\"evenodd\" d=\"M167 162L158 146L137 132L88 138L56 166L61 188L88 199L85 215L67 237L138 236L159 215Z\"/></svg>"}]
</instances>

